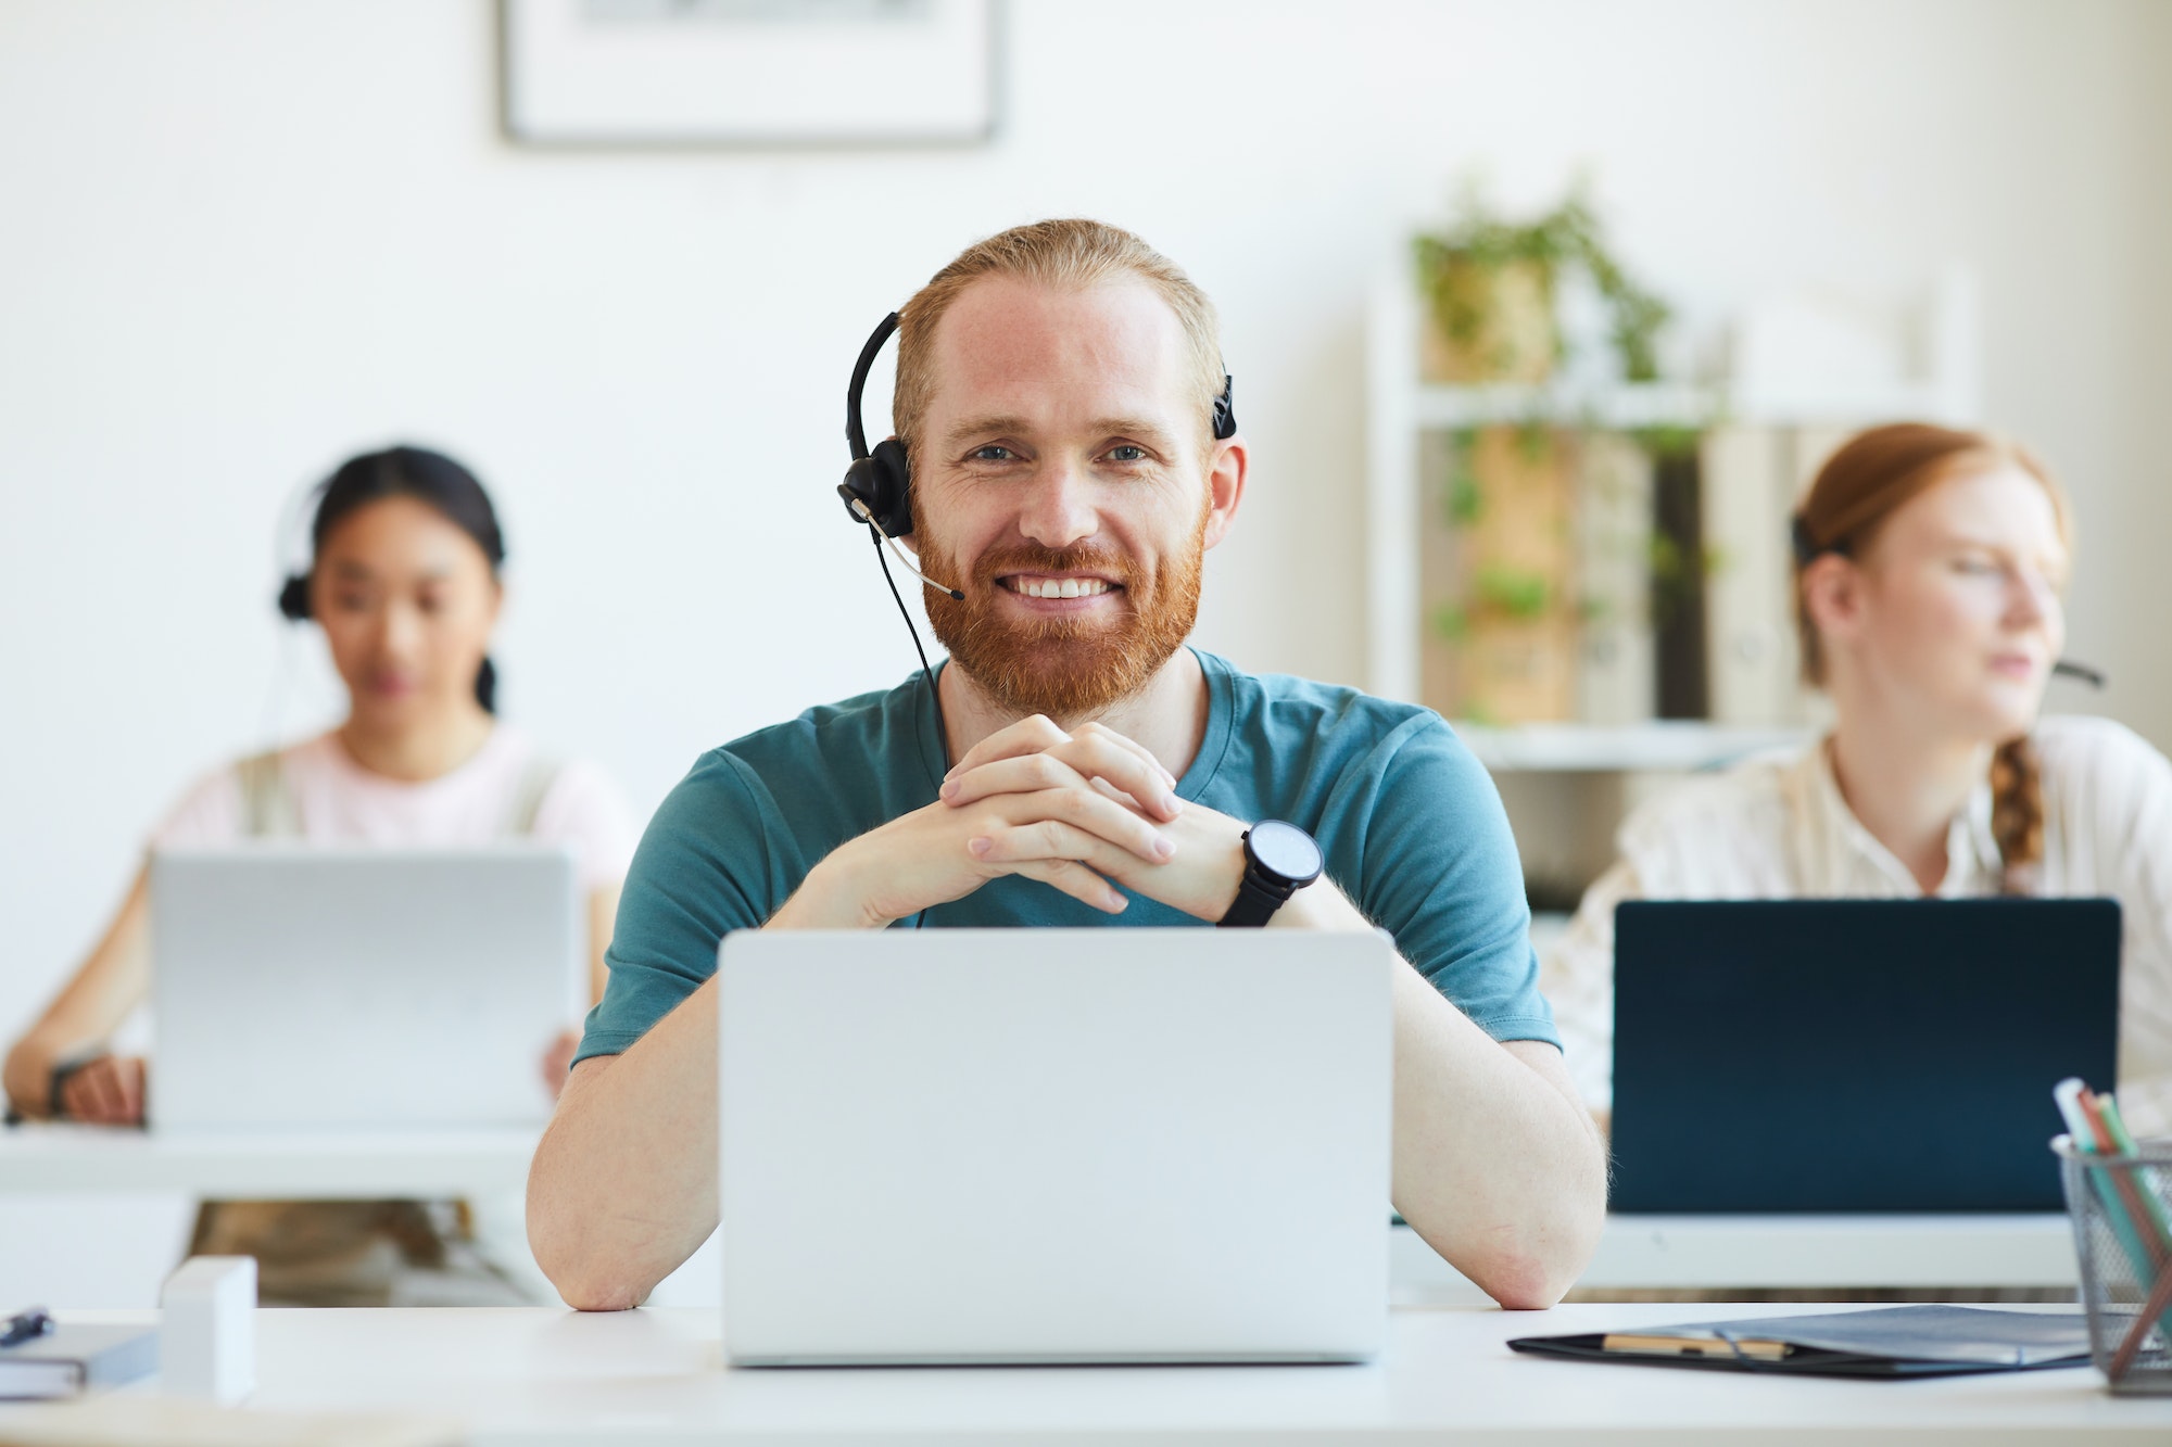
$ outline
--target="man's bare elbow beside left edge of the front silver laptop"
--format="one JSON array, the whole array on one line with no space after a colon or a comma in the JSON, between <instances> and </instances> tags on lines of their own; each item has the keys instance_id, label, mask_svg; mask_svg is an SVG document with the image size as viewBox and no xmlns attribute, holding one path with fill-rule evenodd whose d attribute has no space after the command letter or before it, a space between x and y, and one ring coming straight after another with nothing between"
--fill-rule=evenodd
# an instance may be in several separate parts
<instances>
[{"instance_id":1,"label":"man's bare elbow beside left edge of the front silver laptop","mask_svg":"<svg viewBox=\"0 0 2172 1447\"><path fill-rule=\"evenodd\" d=\"M582 1060L528 1171L528 1245L580 1310L626 1310L717 1230L717 984Z\"/></svg>"}]
</instances>

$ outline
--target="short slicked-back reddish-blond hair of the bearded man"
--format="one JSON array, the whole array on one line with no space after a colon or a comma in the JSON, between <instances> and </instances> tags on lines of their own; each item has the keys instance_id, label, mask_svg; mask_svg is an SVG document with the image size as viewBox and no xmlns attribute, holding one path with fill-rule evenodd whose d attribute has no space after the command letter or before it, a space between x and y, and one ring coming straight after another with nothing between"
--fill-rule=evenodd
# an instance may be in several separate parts
<instances>
[{"instance_id":1,"label":"short slicked-back reddish-blond hair of the bearded man","mask_svg":"<svg viewBox=\"0 0 2172 1447\"><path fill-rule=\"evenodd\" d=\"M936 391L934 339L936 324L951 302L984 276L1014 276L1043 287L1084 291L1123 278L1153 287L1177 315L1190 352L1192 389L1199 393L1199 417L1214 413L1223 389L1221 335L1214 302L1192 285L1177 263L1127 230L1101 222L1058 219L1012 226L975 241L897 313L897 391L891 398L891 426L906 454L919 465L919 430ZM1208 426L1208 443L1214 430Z\"/></svg>"}]
</instances>

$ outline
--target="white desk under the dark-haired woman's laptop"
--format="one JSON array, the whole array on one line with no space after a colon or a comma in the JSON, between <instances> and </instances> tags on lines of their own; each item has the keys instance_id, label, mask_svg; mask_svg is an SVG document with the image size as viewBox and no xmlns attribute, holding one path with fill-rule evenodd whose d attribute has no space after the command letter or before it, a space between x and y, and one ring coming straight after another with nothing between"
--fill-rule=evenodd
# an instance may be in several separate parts
<instances>
[{"instance_id":1,"label":"white desk under the dark-haired woman's laptop","mask_svg":"<svg viewBox=\"0 0 2172 1447\"><path fill-rule=\"evenodd\" d=\"M159 1134L0 1130L0 1191L187 1191L228 1199L456 1197L519 1191L541 1130Z\"/></svg>"}]
</instances>

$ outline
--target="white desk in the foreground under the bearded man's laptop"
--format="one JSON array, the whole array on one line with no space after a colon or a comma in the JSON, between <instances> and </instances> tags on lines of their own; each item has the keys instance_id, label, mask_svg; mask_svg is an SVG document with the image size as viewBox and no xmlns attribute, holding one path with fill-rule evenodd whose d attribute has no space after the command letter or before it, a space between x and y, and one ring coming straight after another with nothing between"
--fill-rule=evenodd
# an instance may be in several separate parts
<instances>
[{"instance_id":1,"label":"white desk in the foreground under the bearded man's laptop","mask_svg":"<svg viewBox=\"0 0 2172 1447\"><path fill-rule=\"evenodd\" d=\"M319 1310L258 1317L250 1410L452 1414L478 1447L573 1443L2172 1440L2172 1397L2096 1371L1931 1382L1559 1362L1510 1336L1770 1314L1729 1306L1397 1308L1366 1367L723 1371L715 1312ZM1798 1308L1846 1310L1846 1308ZM139 1317L152 1317L141 1312ZM130 1388L137 1391L137 1388ZM0 1408L0 1430L20 1408Z\"/></svg>"}]
</instances>

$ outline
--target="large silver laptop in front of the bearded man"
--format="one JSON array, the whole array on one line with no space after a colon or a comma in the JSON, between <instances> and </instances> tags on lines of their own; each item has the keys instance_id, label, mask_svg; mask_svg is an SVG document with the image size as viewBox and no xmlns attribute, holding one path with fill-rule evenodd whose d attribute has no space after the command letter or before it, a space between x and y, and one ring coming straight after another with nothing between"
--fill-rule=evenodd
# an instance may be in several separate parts
<instances>
[{"instance_id":1,"label":"large silver laptop in front of the bearded man","mask_svg":"<svg viewBox=\"0 0 2172 1447\"><path fill-rule=\"evenodd\" d=\"M1377 934L741 932L741 1364L1360 1360L1388 1317Z\"/></svg>"}]
</instances>

